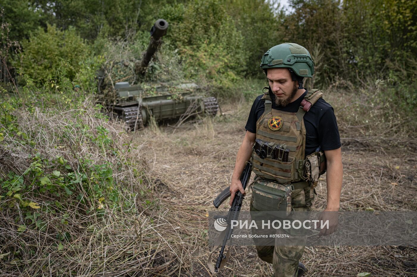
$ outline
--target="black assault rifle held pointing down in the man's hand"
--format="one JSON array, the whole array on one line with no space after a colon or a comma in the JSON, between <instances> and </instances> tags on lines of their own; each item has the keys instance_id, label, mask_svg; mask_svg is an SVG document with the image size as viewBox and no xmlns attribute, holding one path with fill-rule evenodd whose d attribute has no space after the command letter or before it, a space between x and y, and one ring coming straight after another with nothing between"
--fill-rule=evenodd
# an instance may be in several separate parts
<instances>
[{"instance_id":1,"label":"black assault rifle held pointing down in the man's hand","mask_svg":"<svg viewBox=\"0 0 417 277\"><path fill-rule=\"evenodd\" d=\"M243 189L246 189L246 185L249 182L249 178L251 178L251 171L252 171L252 161L247 161L246 162L246 166L240 176L240 181L243 185ZM224 200L226 200L227 198L229 198L229 196L231 195L230 193L230 186L227 187L226 189L224 189L217 197L216 199L214 199L213 204L214 207L219 208L219 206L221 205L221 203L224 202ZM229 214L227 215L226 222L227 222L227 228L224 231L224 238L223 238L223 245L221 246L220 252L219 252L219 257L217 258L217 262L216 262L216 266L214 267L214 272L219 272L219 268L223 267L224 264L226 264L227 260L229 260L229 257L226 255L224 255L224 247L226 247L227 241L230 240L230 237L233 233L233 229L231 228L231 220L237 220L239 218L239 212L240 209L242 207L242 203L244 200L245 196L242 195L242 193L238 190L236 192L236 195L233 199L232 205L229 209ZM208 261L208 266L210 268L213 267L213 265L211 265L211 255Z\"/></svg>"}]
</instances>

